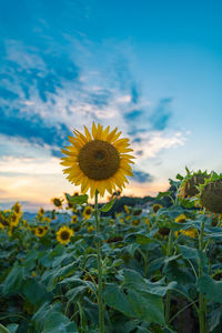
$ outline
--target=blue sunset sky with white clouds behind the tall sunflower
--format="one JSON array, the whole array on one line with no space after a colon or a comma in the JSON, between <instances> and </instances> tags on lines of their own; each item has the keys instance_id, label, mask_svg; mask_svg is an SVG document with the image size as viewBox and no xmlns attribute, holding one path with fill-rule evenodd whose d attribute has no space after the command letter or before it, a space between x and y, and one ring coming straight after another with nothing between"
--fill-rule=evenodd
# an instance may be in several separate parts
<instances>
[{"instance_id":1,"label":"blue sunset sky with white clouds behind the tall sunflower","mask_svg":"<svg viewBox=\"0 0 222 333\"><path fill-rule=\"evenodd\" d=\"M184 167L221 172L221 1L0 0L0 202L74 191L67 135L92 121L129 135L125 194Z\"/></svg>"}]
</instances>

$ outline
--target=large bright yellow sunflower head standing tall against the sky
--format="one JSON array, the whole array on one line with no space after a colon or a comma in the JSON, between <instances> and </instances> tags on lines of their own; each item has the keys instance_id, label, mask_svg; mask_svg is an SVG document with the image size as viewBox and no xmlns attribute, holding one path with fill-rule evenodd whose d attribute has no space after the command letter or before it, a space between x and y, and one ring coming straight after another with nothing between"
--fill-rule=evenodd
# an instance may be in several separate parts
<instances>
[{"instance_id":1,"label":"large bright yellow sunflower head standing tall against the sky","mask_svg":"<svg viewBox=\"0 0 222 333\"><path fill-rule=\"evenodd\" d=\"M81 184L84 194L90 190L91 198L95 190L104 195L105 190L112 195L115 189L122 190L128 180L125 175L133 175L130 163L132 155L128 152L129 139L119 139L121 132L118 128L110 132L110 127L103 129L92 123L92 134L84 127L84 135L74 130L75 137L69 137L71 147L62 150L68 157L61 164L68 167L63 170L68 180L75 185Z\"/></svg>"}]
</instances>

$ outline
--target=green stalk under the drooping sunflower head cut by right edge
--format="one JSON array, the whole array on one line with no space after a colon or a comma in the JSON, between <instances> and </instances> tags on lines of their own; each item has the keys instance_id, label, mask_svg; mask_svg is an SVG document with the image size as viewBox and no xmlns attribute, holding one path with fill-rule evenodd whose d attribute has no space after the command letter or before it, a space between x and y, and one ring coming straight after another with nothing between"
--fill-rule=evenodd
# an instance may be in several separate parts
<instances>
[{"instance_id":1,"label":"green stalk under the drooping sunflower head cut by right edge","mask_svg":"<svg viewBox=\"0 0 222 333\"><path fill-rule=\"evenodd\" d=\"M199 250L203 250L203 231L204 231L204 221L201 223L201 230L199 235ZM203 275L203 270L201 266L201 262L199 260L199 278ZM205 301L203 295L199 294L199 324L200 324L200 333L205 333Z\"/></svg>"}]
</instances>

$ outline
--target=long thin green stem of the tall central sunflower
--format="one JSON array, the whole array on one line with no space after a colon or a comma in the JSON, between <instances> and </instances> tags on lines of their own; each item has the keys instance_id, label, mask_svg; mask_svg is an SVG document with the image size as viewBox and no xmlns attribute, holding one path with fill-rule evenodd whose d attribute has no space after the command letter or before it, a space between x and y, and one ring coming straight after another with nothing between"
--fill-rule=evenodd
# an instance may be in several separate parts
<instances>
[{"instance_id":1,"label":"long thin green stem of the tall central sunflower","mask_svg":"<svg viewBox=\"0 0 222 333\"><path fill-rule=\"evenodd\" d=\"M98 190L94 195L94 216L95 216L95 232L97 232L97 258L98 258L98 305L99 305L99 329L100 333L104 333L104 307L102 301L102 261L101 261L101 242L99 239L100 233L100 216L98 209Z\"/></svg>"}]
</instances>

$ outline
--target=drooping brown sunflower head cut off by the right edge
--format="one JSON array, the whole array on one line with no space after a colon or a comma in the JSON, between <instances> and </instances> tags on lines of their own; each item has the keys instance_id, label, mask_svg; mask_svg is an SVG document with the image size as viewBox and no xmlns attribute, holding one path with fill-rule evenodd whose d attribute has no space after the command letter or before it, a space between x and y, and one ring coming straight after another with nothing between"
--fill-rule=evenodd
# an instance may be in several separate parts
<instances>
[{"instance_id":1,"label":"drooping brown sunflower head cut off by the right edge","mask_svg":"<svg viewBox=\"0 0 222 333\"><path fill-rule=\"evenodd\" d=\"M209 212L222 214L222 173L212 172L211 178L205 179L199 190L200 204Z\"/></svg>"}]
</instances>

